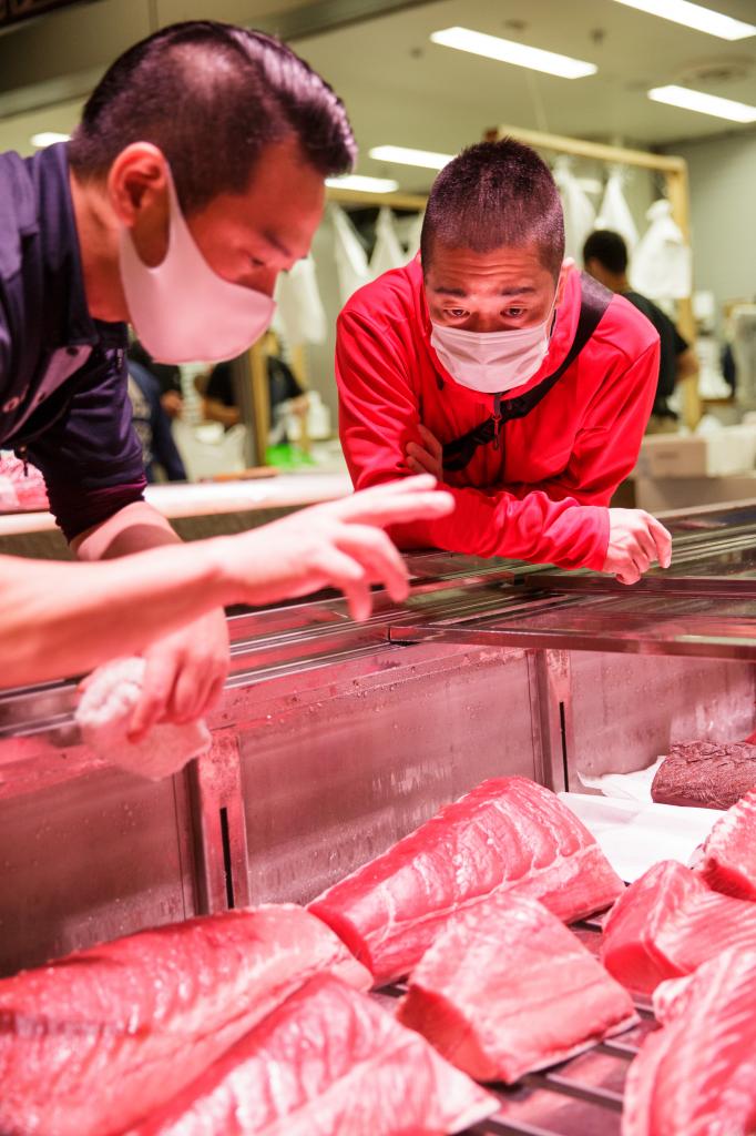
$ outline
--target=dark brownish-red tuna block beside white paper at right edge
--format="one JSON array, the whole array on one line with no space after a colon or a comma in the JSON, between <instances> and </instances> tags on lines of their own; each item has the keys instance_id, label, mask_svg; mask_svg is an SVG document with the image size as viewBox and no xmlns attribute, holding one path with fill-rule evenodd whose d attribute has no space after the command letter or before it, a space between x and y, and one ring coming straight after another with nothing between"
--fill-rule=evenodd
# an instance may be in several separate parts
<instances>
[{"instance_id":1,"label":"dark brownish-red tuna block beside white paper at right edge","mask_svg":"<svg viewBox=\"0 0 756 1136\"><path fill-rule=\"evenodd\" d=\"M673 745L656 770L652 796L662 804L729 809L756 788L756 745L686 742Z\"/></svg>"}]
</instances>

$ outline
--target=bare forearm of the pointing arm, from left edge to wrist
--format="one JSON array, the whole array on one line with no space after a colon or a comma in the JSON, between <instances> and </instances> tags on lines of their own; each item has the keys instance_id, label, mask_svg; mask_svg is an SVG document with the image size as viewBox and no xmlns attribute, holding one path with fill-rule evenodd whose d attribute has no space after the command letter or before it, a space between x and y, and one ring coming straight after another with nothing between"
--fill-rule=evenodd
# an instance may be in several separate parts
<instances>
[{"instance_id":1,"label":"bare forearm of the pointing arm, from left edge to wrist","mask_svg":"<svg viewBox=\"0 0 756 1136\"><path fill-rule=\"evenodd\" d=\"M0 687L82 674L138 653L235 599L218 541L104 563L0 557Z\"/></svg>"}]
</instances>

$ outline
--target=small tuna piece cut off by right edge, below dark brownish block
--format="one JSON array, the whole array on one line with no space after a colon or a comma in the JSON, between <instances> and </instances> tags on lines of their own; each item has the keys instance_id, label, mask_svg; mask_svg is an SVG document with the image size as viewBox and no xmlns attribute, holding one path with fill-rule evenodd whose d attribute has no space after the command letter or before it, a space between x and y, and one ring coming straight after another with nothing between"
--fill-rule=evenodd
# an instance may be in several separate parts
<instances>
[{"instance_id":1,"label":"small tuna piece cut off by right edge, below dark brownish block","mask_svg":"<svg viewBox=\"0 0 756 1136\"><path fill-rule=\"evenodd\" d=\"M756 900L756 792L716 821L697 870L715 891Z\"/></svg>"}]
</instances>

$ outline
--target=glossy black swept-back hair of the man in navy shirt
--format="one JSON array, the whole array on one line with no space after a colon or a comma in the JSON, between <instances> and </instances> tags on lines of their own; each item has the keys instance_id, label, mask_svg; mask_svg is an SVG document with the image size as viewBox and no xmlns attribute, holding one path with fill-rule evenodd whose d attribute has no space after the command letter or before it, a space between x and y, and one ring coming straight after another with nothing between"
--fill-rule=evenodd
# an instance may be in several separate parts
<instances>
[{"instance_id":1,"label":"glossy black swept-back hair of the man in navy shirt","mask_svg":"<svg viewBox=\"0 0 756 1136\"><path fill-rule=\"evenodd\" d=\"M106 72L68 144L82 179L104 176L132 142L166 156L182 207L243 193L263 147L293 133L324 177L354 165L346 110L291 48L215 20L171 24Z\"/></svg>"}]
</instances>

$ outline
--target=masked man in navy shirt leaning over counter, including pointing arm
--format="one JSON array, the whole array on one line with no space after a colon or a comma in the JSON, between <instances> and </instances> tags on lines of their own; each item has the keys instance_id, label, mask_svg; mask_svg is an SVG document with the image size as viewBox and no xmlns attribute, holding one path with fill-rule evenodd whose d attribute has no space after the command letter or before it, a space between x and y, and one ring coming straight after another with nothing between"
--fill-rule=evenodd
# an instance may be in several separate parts
<instances>
[{"instance_id":1,"label":"masked man in navy shirt leaning over counter, including pointing arm","mask_svg":"<svg viewBox=\"0 0 756 1136\"><path fill-rule=\"evenodd\" d=\"M364 526L446 511L422 483L414 496L339 502L179 559L143 500L127 396L127 321L159 362L251 345L278 273L309 250L325 177L354 152L343 105L306 64L261 33L203 20L121 56L70 143L0 156L0 446L42 470L78 559L112 561L0 558L0 686L142 650L138 737L218 698L219 604L335 583L364 616L370 579L405 592L393 545Z\"/></svg>"}]
</instances>

